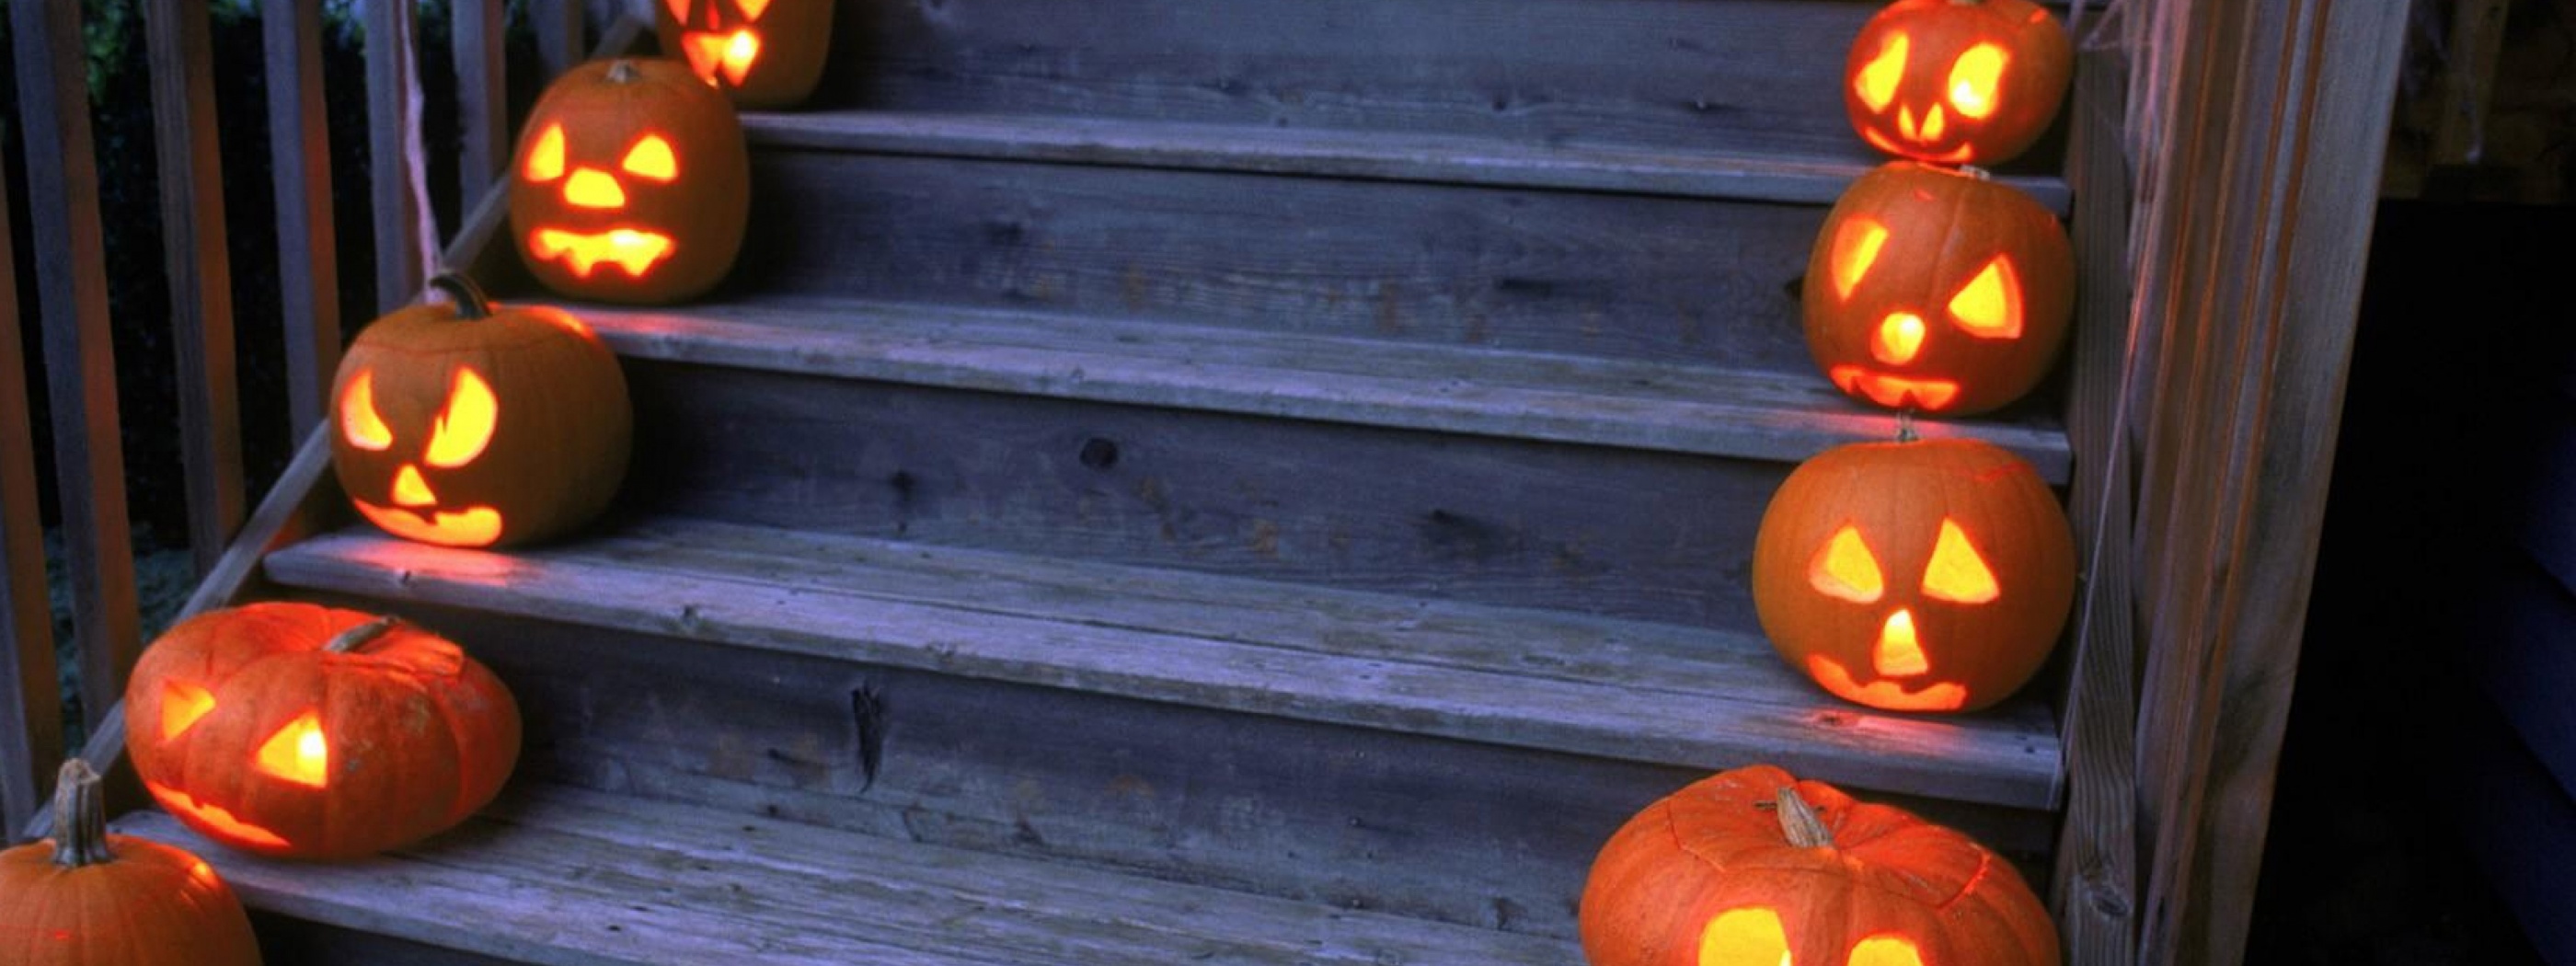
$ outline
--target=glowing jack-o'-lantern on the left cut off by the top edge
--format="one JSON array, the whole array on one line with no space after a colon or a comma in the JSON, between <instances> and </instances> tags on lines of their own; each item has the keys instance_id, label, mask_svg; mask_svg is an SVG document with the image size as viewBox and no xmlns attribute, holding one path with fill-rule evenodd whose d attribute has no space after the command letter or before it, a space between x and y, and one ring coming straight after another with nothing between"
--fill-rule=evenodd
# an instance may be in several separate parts
<instances>
[{"instance_id":1,"label":"glowing jack-o'-lantern on the left cut off by the top edge","mask_svg":"<svg viewBox=\"0 0 2576 966\"><path fill-rule=\"evenodd\" d=\"M783 108L814 93L832 46L835 0L654 0L662 54L744 108Z\"/></svg>"}]
</instances>

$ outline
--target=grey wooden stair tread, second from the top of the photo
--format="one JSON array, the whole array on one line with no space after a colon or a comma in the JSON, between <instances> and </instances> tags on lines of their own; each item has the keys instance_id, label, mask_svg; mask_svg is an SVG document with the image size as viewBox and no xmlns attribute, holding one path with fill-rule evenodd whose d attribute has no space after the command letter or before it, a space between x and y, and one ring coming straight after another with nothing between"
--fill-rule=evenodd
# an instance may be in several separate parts
<instances>
[{"instance_id":1,"label":"grey wooden stair tread, second from the top of the photo","mask_svg":"<svg viewBox=\"0 0 2576 966\"><path fill-rule=\"evenodd\" d=\"M569 309L621 353L677 363L1734 459L1896 438L1893 415L1811 371L871 301ZM1986 438L2066 482L2066 435L2043 412L1917 433Z\"/></svg>"}]
</instances>

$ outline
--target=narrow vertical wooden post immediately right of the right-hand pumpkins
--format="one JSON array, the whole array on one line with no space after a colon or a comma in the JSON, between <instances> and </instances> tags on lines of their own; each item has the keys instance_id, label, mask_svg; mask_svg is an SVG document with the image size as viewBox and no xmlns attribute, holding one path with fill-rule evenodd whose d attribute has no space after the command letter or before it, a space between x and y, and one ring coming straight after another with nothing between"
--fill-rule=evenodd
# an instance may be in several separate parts
<instances>
[{"instance_id":1,"label":"narrow vertical wooden post immediately right of the right-hand pumpkins","mask_svg":"<svg viewBox=\"0 0 2576 966\"><path fill-rule=\"evenodd\" d=\"M2074 680L2061 719L2066 824L2050 907L2076 966L2128 966L2138 956L2138 672L2130 611L2128 520L2136 495L2120 399L2128 397L2128 57L2084 54L2069 100L2066 183L2074 191L2076 335L2066 438L2074 446L2074 520L2084 592L2074 611Z\"/></svg>"}]
</instances>

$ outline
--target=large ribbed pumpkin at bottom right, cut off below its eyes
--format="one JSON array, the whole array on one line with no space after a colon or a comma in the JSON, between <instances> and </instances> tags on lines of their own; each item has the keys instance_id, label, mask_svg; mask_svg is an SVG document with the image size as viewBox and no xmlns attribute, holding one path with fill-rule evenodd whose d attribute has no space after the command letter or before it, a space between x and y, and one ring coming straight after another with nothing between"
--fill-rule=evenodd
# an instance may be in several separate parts
<instances>
[{"instance_id":1,"label":"large ribbed pumpkin at bottom right, cut off below its eyes","mask_svg":"<svg viewBox=\"0 0 2576 966\"><path fill-rule=\"evenodd\" d=\"M1592 966L2056 966L2012 863L1904 809L1772 765L1628 819L1582 899Z\"/></svg>"}]
</instances>

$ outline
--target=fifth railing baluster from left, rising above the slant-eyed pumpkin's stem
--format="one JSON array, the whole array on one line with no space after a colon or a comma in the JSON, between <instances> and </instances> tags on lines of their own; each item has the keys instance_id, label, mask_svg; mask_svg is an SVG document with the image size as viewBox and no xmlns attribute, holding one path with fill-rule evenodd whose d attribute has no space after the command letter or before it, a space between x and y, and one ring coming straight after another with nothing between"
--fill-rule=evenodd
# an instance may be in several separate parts
<instances>
[{"instance_id":1,"label":"fifth railing baluster from left, rising above the slant-eyed pumpkin's stem","mask_svg":"<svg viewBox=\"0 0 2576 966\"><path fill-rule=\"evenodd\" d=\"M420 294L420 211L402 137L417 124L410 106L412 49L397 21L412 0L366 5L366 165L376 204L376 312L394 312Z\"/></svg>"}]
</instances>

